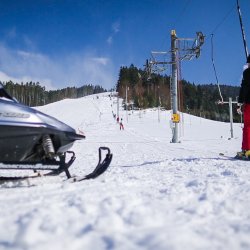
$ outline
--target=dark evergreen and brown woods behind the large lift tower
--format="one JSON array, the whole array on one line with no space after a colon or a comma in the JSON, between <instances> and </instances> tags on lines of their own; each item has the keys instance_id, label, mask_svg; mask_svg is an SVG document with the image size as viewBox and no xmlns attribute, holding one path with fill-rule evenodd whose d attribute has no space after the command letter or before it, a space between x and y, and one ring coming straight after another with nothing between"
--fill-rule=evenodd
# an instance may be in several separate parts
<instances>
[{"instance_id":1,"label":"dark evergreen and brown woods behind the large lift tower","mask_svg":"<svg viewBox=\"0 0 250 250\"><path fill-rule=\"evenodd\" d=\"M147 73L134 65L121 67L116 86L117 92L128 103L137 108L164 107L171 109L171 83L167 75ZM229 97L236 100L239 87L220 86L224 102ZM229 105L218 104L221 101L218 86L215 84L194 84L185 80L178 82L179 110L196 116L217 121L229 121ZM234 121L240 121L233 105Z\"/></svg>"}]
</instances>

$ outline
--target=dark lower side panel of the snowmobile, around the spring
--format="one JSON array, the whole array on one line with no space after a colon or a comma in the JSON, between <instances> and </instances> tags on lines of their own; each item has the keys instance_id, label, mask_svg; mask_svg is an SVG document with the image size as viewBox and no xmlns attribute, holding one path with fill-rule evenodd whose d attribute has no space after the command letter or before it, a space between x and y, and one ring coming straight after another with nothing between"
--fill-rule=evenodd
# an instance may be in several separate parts
<instances>
[{"instance_id":1,"label":"dark lower side panel of the snowmobile, around the spring","mask_svg":"<svg viewBox=\"0 0 250 250\"><path fill-rule=\"evenodd\" d=\"M50 135L56 155L68 151L75 141L72 133L44 127L0 126L0 162L28 159L36 161L38 158L44 158L44 135ZM78 135L77 139L80 139Z\"/></svg>"}]
</instances>

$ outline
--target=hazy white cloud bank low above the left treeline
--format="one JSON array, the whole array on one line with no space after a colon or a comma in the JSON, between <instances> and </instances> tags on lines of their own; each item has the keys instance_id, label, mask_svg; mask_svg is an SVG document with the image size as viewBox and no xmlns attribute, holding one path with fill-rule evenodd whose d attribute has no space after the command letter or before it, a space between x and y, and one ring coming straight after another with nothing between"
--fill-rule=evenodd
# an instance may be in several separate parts
<instances>
[{"instance_id":1,"label":"hazy white cloud bank low above the left treeline","mask_svg":"<svg viewBox=\"0 0 250 250\"><path fill-rule=\"evenodd\" d=\"M40 82L48 89L84 84L110 89L116 84L112 61L93 51L51 58L30 51L11 50L0 44L0 80Z\"/></svg>"}]
</instances>

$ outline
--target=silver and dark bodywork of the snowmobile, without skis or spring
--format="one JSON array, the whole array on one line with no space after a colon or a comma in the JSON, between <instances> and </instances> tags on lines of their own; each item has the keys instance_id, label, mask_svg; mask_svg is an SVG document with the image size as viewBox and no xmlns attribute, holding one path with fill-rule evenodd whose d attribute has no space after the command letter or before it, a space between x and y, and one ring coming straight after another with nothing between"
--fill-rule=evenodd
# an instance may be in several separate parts
<instances>
[{"instance_id":1,"label":"silver and dark bodywork of the snowmobile, without skis or spring","mask_svg":"<svg viewBox=\"0 0 250 250\"><path fill-rule=\"evenodd\" d=\"M68 151L75 140L85 138L54 117L8 96L0 97L0 162L32 162L44 158L45 135L50 136L55 155Z\"/></svg>"}]
</instances>

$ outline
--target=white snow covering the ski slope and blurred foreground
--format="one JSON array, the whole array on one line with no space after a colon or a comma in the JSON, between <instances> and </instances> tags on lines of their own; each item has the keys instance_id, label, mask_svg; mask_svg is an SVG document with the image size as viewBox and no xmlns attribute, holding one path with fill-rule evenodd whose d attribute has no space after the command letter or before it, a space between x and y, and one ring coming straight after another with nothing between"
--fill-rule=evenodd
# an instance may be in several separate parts
<instances>
[{"instance_id":1,"label":"white snow covering the ski slope and blurred foreground","mask_svg":"<svg viewBox=\"0 0 250 250\"><path fill-rule=\"evenodd\" d=\"M170 143L170 112L120 111L110 93L37 109L86 139L74 144L75 175L93 170L98 148L110 168L97 179L65 175L0 184L0 249L250 249L250 162L232 160L240 124L183 115L181 142ZM219 153L225 156L220 156Z\"/></svg>"}]
</instances>

